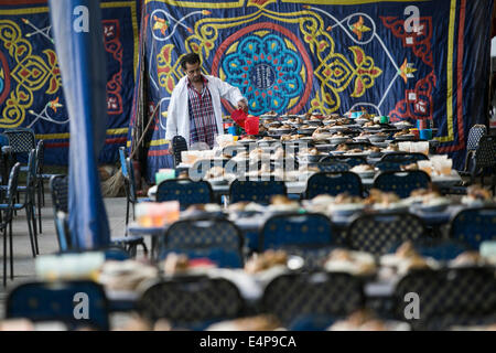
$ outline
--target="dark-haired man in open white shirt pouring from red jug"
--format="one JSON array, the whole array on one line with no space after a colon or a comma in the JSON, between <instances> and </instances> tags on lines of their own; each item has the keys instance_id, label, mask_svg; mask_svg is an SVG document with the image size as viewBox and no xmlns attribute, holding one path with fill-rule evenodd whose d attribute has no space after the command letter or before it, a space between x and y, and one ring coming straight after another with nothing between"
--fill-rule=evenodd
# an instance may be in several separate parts
<instances>
[{"instance_id":1,"label":"dark-haired man in open white shirt pouring from red jug","mask_svg":"<svg viewBox=\"0 0 496 353\"><path fill-rule=\"evenodd\" d=\"M186 54L181 66L186 76L181 78L171 95L168 109L165 139L182 136L187 146L214 147L215 137L224 135L220 98L248 111L247 99L239 88L220 78L203 75L200 56Z\"/></svg>"}]
</instances>

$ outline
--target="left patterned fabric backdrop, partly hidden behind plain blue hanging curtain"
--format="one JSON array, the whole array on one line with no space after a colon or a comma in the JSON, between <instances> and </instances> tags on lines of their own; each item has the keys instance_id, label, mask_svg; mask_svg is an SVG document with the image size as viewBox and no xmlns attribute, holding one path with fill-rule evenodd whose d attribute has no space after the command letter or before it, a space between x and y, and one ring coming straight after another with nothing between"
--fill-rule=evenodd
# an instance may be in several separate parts
<instances>
[{"instance_id":1,"label":"left patterned fabric backdrop, partly hidden behind plain blue hanging curtain","mask_svg":"<svg viewBox=\"0 0 496 353\"><path fill-rule=\"evenodd\" d=\"M100 2L108 122L99 161L116 162L118 147L126 145L132 107L140 1ZM0 2L0 130L34 129L36 139L45 141L45 163L64 165L69 124L53 41L46 0Z\"/></svg>"}]
</instances>

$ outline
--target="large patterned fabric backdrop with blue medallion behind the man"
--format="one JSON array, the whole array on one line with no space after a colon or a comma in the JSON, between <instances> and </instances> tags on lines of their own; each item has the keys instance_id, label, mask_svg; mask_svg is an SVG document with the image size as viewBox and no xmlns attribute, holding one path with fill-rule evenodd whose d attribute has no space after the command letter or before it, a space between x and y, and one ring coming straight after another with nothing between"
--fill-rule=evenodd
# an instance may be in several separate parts
<instances>
[{"instance_id":1,"label":"large patterned fabric backdrop with blue medallion behind the man","mask_svg":"<svg viewBox=\"0 0 496 353\"><path fill-rule=\"evenodd\" d=\"M160 106L148 179L172 165L166 109L187 52L239 87L254 115L365 107L430 120L460 167L467 130L487 115L492 10L493 0L147 0L143 64L150 109Z\"/></svg>"}]
</instances>

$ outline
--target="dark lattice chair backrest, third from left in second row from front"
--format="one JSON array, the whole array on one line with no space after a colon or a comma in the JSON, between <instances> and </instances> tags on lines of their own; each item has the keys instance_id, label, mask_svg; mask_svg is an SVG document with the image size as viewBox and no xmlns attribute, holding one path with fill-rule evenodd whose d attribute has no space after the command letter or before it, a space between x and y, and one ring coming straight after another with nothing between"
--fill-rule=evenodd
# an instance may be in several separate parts
<instances>
[{"instance_id":1,"label":"dark lattice chair backrest, third from left in second row from front","mask_svg":"<svg viewBox=\"0 0 496 353\"><path fill-rule=\"evenodd\" d=\"M363 214L348 226L346 243L352 249L379 256L388 254L398 244L420 239L424 234L422 220L413 214Z\"/></svg>"}]
</instances>

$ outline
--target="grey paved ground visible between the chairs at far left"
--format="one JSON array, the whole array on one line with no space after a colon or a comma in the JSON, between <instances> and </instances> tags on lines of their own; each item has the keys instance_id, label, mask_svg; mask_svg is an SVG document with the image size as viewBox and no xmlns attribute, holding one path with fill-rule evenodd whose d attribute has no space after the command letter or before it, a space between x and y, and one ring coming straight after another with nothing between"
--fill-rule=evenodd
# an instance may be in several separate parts
<instances>
[{"instance_id":1,"label":"grey paved ground visible between the chairs at far left","mask_svg":"<svg viewBox=\"0 0 496 353\"><path fill-rule=\"evenodd\" d=\"M22 196L21 196L22 197ZM105 199L110 231L112 237L123 236L126 197ZM20 212L13 222L13 252L14 252L14 280L8 280L3 288L0 279L0 318L3 318L3 307L7 292L10 288L34 279L34 258L28 232L25 212ZM48 188L45 188L45 206L42 208L42 231L39 235L40 255L53 254L58 250L53 222L52 197ZM0 237L0 277L3 278L3 238Z\"/></svg>"}]
</instances>

